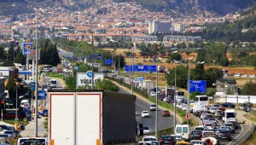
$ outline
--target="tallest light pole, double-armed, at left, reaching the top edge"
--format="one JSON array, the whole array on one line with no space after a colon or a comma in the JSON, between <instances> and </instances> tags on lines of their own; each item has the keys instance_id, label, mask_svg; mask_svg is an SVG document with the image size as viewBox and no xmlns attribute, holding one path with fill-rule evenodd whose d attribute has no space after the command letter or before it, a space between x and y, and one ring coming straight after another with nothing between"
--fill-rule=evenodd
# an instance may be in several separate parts
<instances>
[{"instance_id":1,"label":"tallest light pole, double-armed, at left, reaching the top edge","mask_svg":"<svg viewBox=\"0 0 256 145\"><path fill-rule=\"evenodd\" d=\"M41 3L34 3L28 0L24 0L27 3L32 3L37 5L37 32L36 32L36 89L35 89L35 100L36 100L36 107L35 107L35 137L38 136L38 5L43 3L51 2L52 0L44 1Z\"/></svg>"}]
</instances>

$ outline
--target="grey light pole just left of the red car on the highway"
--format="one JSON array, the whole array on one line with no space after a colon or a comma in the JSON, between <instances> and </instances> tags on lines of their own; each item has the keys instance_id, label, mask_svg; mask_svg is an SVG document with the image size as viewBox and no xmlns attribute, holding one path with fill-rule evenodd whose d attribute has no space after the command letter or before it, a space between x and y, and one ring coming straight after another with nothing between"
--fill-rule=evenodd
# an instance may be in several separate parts
<instances>
[{"instance_id":1,"label":"grey light pole just left of the red car on the highway","mask_svg":"<svg viewBox=\"0 0 256 145\"><path fill-rule=\"evenodd\" d=\"M137 49L138 52L141 52L141 50ZM148 55L153 55L147 52L143 52ZM157 131L158 131L158 60L157 60L157 53L155 53L155 60L156 60L156 90L155 90L155 105L156 105L156 111L155 111L155 130L154 130L154 136L157 136Z\"/></svg>"}]
</instances>

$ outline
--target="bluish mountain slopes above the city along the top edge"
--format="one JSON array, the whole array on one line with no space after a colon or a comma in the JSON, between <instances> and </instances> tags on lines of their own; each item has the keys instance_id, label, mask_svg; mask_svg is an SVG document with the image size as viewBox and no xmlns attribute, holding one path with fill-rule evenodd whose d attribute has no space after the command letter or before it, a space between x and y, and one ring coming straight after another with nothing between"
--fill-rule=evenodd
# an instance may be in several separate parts
<instances>
[{"instance_id":1,"label":"bluish mountain slopes above the city along the top edge","mask_svg":"<svg viewBox=\"0 0 256 145\"><path fill-rule=\"evenodd\" d=\"M38 3L40 2L44 2L44 0L38 0ZM96 7L102 3L131 2L142 5L143 9L154 12L165 12L166 14L173 15L173 17L184 18L223 16L253 6L256 0L58 0L47 3L47 5L57 6L71 11L79 11L92 6ZM4 2L0 3L0 14L15 15L32 13L32 9L12 7L14 4L22 5L25 8L25 5L31 5L31 3L20 0L4 0Z\"/></svg>"}]
</instances>

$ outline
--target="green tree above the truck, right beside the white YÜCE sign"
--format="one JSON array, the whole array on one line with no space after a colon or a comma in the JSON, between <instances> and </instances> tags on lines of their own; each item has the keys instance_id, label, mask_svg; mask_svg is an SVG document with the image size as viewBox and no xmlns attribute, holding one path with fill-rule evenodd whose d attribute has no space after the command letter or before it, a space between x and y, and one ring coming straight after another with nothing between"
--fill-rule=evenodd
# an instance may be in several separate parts
<instances>
[{"instance_id":1,"label":"green tree above the truck, right beside the white Y\u00dcCE sign","mask_svg":"<svg viewBox=\"0 0 256 145\"><path fill-rule=\"evenodd\" d=\"M110 90L110 91L119 91L119 87L113 84L110 80L108 79L103 79L100 81L97 81L95 84L96 89L101 89L101 90Z\"/></svg>"}]
</instances>

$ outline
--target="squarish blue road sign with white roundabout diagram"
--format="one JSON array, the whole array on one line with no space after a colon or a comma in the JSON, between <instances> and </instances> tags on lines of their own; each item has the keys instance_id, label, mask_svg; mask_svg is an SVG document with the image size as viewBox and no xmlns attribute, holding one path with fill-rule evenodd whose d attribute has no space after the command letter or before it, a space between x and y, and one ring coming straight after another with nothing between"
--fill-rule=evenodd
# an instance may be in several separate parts
<instances>
[{"instance_id":1,"label":"squarish blue road sign with white roundabout diagram","mask_svg":"<svg viewBox=\"0 0 256 145\"><path fill-rule=\"evenodd\" d=\"M207 92L207 81L206 80L190 80L189 92L192 93L198 91L200 93Z\"/></svg>"}]
</instances>

